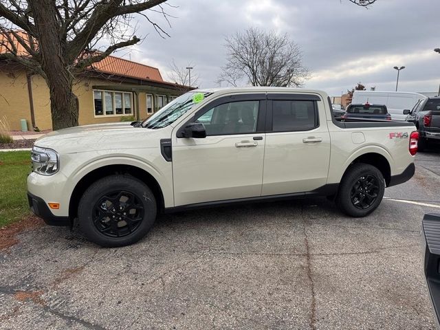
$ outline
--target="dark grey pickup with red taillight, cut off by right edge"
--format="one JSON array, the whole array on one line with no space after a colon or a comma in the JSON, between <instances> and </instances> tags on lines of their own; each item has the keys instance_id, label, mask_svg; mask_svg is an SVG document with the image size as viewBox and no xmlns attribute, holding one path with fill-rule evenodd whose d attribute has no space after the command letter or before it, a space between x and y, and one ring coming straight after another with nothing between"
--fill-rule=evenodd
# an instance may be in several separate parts
<instances>
[{"instance_id":1,"label":"dark grey pickup with red taillight, cut off by right edge","mask_svg":"<svg viewBox=\"0 0 440 330\"><path fill-rule=\"evenodd\" d=\"M440 142L440 98L438 96L417 102L406 120L413 122L419 131L420 151L432 142Z\"/></svg>"}]
</instances>

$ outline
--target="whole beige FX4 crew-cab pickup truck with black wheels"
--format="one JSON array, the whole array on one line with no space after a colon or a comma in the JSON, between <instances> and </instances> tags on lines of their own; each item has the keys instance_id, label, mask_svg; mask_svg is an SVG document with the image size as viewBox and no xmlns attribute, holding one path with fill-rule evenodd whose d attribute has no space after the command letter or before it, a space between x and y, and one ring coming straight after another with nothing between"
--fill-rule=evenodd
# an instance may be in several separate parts
<instances>
[{"instance_id":1,"label":"whole beige FX4 crew-cab pickup truck with black wheels","mask_svg":"<svg viewBox=\"0 0 440 330\"><path fill-rule=\"evenodd\" d=\"M102 246L135 243L157 212L230 203L324 195L364 217L385 186L414 175L414 129L333 118L322 91L190 91L138 127L72 127L36 140L28 199L48 224L78 218Z\"/></svg>"}]
</instances>

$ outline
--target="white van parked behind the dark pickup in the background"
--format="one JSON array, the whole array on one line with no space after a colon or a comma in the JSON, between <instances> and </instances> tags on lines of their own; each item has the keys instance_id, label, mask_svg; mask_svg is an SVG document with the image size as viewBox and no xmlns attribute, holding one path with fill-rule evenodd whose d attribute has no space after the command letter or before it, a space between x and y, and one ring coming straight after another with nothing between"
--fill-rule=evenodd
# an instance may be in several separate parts
<instances>
[{"instance_id":1,"label":"white van parked behind the dark pickup in the background","mask_svg":"<svg viewBox=\"0 0 440 330\"><path fill-rule=\"evenodd\" d=\"M355 91L351 103L385 104L393 120L405 120L404 110L411 110L426 96L408 91Z\"/></svg>"}]
</instances>

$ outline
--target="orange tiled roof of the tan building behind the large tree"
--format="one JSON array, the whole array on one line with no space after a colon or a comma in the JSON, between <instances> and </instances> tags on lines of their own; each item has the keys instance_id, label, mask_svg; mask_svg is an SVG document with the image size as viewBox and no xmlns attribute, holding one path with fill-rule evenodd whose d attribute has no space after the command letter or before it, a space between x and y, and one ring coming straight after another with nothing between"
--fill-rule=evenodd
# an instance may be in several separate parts
<instances>
[{"instance_id":1,"label":"orange tiled roof of the tan building behind the large tree","mask_svg":"<svg viewBox=\"0 0 440 330\"><path fill-rule=\"evenodd\" d=\"M28 41L28 34L26 34L26 32L17 31L16 33L20 38ZM23 47L23 45L17 41L15 36L10 34L10 37L12 39L12 45L17 48L17 54L19 56L28 56L28 52L26 52L25 47ZM10 52L11 49L12 46L9 39L4 34L0 33L0 54ZM108 56L102 61L92 64L89 69L93 69L104 74L113 74L117 76L166 83L164 82L164 79L162 79L159 69L115 56Z\"/></svg>"}]
</instances>

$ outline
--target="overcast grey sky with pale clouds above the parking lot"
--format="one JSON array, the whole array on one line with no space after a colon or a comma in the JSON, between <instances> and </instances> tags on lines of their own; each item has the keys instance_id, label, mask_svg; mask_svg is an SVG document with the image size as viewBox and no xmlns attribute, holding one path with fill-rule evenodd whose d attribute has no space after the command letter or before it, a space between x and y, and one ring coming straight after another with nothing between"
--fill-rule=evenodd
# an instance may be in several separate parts
<instances>
[{"instance_id":1,"label":"overcast grey sky with pale clouds above the parking lot","mask_svg":"<svg viewBox=\"0 0 440 330\"><path fill-rule=\"evenodd\" d=\"M149 17L170 34L162 39L140 19L145 37L130 53L133 61L158 67L167 78L175 59L191 62L200 87L217 87L225 63L225 36L258 27L287 33L303 50L311 72L306 88L338 96L362 82L367 89L437 91L440 84L439 0L377 0L368 10L348 0L170 0L169 27L159 14ZM124 52L117 56L127 57Z\"/></svg>"}]
</instances>

